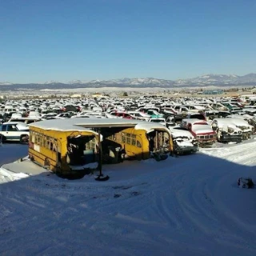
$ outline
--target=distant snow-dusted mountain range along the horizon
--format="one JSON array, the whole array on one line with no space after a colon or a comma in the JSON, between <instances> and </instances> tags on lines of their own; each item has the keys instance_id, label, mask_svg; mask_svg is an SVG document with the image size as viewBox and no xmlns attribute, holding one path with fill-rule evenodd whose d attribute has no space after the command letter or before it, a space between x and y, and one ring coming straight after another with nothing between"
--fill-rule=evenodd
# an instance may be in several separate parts
<instances>
[{"instance_id":1,"label":"distant snow-dusted mountain range along the horizon","mask_svg":"<svg viewBox=\"0 0 256 256\"><path fill-rule=\"evenodd\" d=\"M204 74L197 78L165 80L158 78L122 78L112 80L73 80L70 82L49 81L45 83L10 83L0 82L1 90L44 90L44 89L74 89L74 88L101 88L101 87L207 87L207 86L256 86L256 74L238 76L235 74Z\"/></svg>"}]
</instances>

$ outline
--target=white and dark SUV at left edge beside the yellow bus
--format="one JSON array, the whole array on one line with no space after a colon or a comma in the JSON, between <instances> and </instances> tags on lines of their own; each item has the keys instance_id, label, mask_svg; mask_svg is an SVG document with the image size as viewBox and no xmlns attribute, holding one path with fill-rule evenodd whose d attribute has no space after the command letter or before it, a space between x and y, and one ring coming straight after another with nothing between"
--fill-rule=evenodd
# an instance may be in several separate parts
<instances>
[{"instance_id":1,"label":"white and dark SUV at left edge beside the yellow bus","mask_svg":"<svg viewBox=\"0 0 256 256\"><path fill-rule=\"evenodd\" d=\"M4 122L0 130L1 142L26 143L30 138L29 126L24 122Z\"/></svg>"}]
</instances>

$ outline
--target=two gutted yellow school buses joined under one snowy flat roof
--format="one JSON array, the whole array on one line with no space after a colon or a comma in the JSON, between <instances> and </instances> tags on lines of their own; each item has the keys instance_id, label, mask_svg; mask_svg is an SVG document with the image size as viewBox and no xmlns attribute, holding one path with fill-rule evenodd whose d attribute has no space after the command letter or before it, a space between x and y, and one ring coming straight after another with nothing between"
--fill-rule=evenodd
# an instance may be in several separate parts
<instances>
[{"instance_id":1,"label":"two gutted yellow school buses joined under one snowy flat roof","mask_svg":"<svg viewBox=\"0 0 256 256\"><path fill-rule=\"evenodd\" d=\"M30 159L63 175L101 171L102 163L147 159L163 150L173 151L170 130L154 122L67 118L30 124Z\"/></svg>"}]
</instances>

